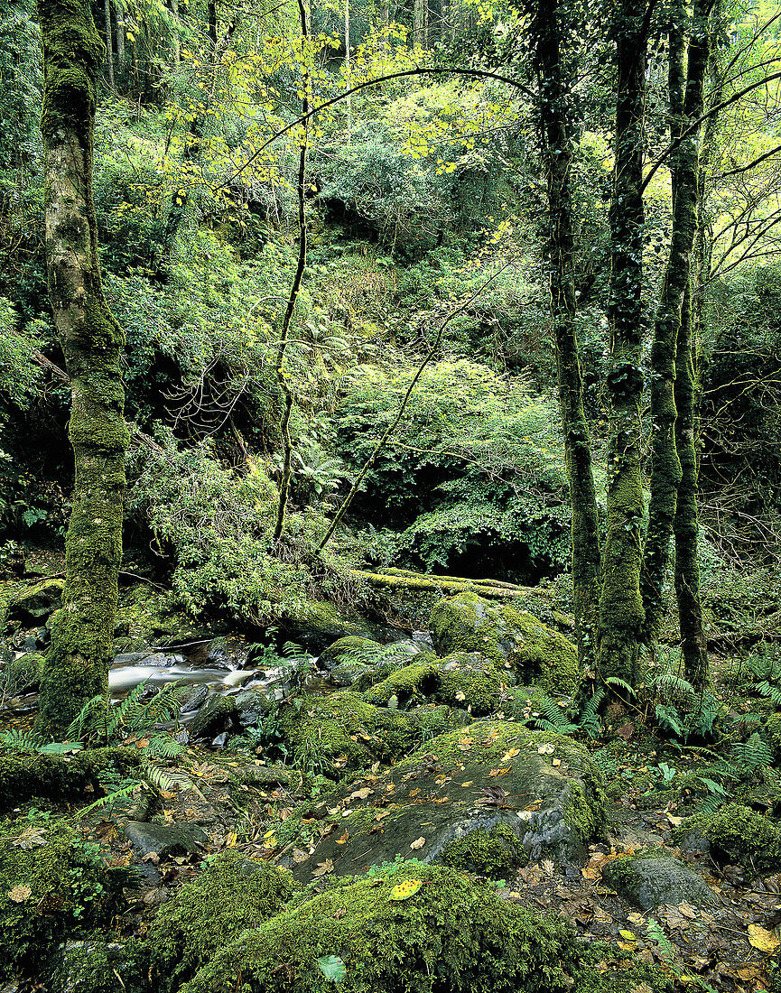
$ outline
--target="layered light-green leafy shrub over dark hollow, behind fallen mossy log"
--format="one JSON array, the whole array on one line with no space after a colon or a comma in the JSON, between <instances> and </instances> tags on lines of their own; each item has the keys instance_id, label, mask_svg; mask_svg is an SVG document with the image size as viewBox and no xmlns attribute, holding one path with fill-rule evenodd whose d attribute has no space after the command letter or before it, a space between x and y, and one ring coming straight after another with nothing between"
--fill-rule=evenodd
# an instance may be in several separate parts
<instances>
[{"instance_id":1,"label":"layered light-green leafy shrub over dark hollow, behind fallen mossy log","mask_svg":"<svg viewBox=\"0 0 781 993\"><path fill-rule=\"evenodd\" d=\"M378 366L351 373L337 425L353 466L394 416L410 374ZM457 573L468 561L470 573L521 579L560 567L568 511L557 422L550 401L484 365L430 366L354 504L369 520L384 507L400 531L377 535L375 553L431 571Z\"/></svg>"}]
</instances>

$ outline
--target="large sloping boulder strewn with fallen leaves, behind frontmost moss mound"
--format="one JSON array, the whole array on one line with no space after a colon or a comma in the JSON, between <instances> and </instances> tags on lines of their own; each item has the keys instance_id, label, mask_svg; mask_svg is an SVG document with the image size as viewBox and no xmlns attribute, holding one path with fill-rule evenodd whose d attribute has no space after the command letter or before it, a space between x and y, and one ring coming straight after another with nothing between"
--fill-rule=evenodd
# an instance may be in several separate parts
<instances>
[{"instance_id":1,"label":"large sloping boulder strewn with fallen leaves, behind frontmost moss mound","mask_svg":"<svg viewBox=\"0 0 781 993\"><path fill-rule=\"evenodd\" d=\"M601 775L585 749L509 721L434 738L384 776L336 789L322 816L331 830L291 864L301 881L323 863L341 875L398 857L484 875L528 859L581 865L606 823Z\"/></svg>"}]
</instances>

